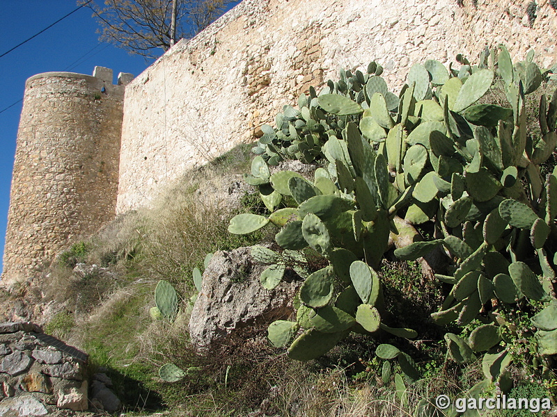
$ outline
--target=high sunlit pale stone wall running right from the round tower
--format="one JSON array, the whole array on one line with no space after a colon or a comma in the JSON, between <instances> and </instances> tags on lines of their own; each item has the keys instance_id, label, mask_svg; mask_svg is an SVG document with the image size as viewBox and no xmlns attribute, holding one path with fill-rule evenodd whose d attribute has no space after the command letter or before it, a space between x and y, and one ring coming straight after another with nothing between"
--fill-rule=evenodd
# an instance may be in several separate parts
<instances>
[{"instance_id":1,"label":"high sunlit pale stone wall running right from the round tower","mask_svg":"<svg viewBox=\"0 0 557 417\"><path fill-rule=\"evenodd\" d=\"M474 6L476 3L476 6ZM475 60L504 42L557 61L557 10L528 0L244 0L181 41L126 89L117 211L148 205L161 184L219 156L284 104L336 79L339 67L377 60L398 92L414 63Z\"/></svg>"}]
</instances>

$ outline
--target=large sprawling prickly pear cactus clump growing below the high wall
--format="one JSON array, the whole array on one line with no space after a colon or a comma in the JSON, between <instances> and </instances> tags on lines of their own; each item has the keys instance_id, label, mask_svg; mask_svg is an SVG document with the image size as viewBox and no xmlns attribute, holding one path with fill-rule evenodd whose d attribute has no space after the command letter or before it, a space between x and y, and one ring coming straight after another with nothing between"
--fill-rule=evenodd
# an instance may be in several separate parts
<instances>
[{"instance_id":1,"label":"large sprawling prickly pear cactus clump growing below the high wall","mask_svg":"<svg viewBox=\"0 0 557 417\"><path fill-rule=\"evenodd\" d=\"M427 60L411 67L400 95L370 63L366 71L341 71L319 93L310 88L298 109L284 106L276 126L262 126L245 178L260 188L270 214L237 215L229 230L246 234L272 224L282 251L313 251L329 263L304 275L297 320L269 327L275 346L309 360L352 331L416 337L413 329L389 326L378 273L389 242L408 236L394 250L399 259L432 250L448 256L447 271L435 275L448 296L434 322L466 326L482 315L468 334L446 334L449 356L468 363L490 352L486 378L505 384L506 325L494 317L525 299L554 302L557 275L557 173L542 176L539 167L557 145L557 90L542 96L535 115L541 135L528 130L526 95L549 74L532 58L513 64L501 46L480 65L457 56L460 70ZM494 88L508 102L487 102ZM269 165L286 158L321 167L315 179L271 174ZM294 207L285 207L285 196ZM417 224L430 224L434 238L425 240ZM539 268L528 266L538 261ZM267 268L262 285L274 288L285 268ZM551 304L532 319L541 357L555 350L557 330L547 324L554 310ZM377 356L396 358L407 380L419 376L398 347L379 345Z\"/></svg>"}]
</instances>

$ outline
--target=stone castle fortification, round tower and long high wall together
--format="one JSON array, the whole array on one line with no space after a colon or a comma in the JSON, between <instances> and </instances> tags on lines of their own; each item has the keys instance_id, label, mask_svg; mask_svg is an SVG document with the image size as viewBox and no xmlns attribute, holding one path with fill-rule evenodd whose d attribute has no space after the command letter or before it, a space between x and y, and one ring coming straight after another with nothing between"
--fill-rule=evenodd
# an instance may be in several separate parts
<instances>
[{"instance_id":1,"label":"stone castle fortification, round tower and long high wall together","mask_svg":"<svg viewBox=\"0 0 557 417\"><path fill-rule=\"evenodd\" d=\"M178 42L131 81L49 72L26 82L8 214L2 284L33 277L72 242L138 206L187 168L274 124L284 104L377 60L398 91L426 59L476 60L507 45L557 62L557 10L529 1L244 0ZM503 4L504 3L504 4Z\"/></svg>"}]
</instances>

